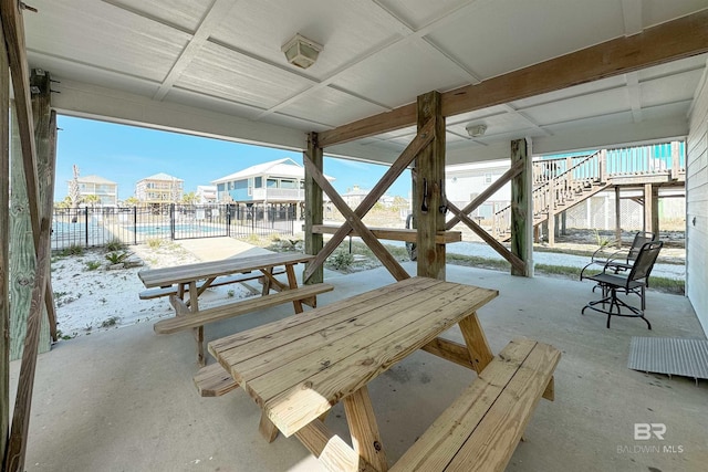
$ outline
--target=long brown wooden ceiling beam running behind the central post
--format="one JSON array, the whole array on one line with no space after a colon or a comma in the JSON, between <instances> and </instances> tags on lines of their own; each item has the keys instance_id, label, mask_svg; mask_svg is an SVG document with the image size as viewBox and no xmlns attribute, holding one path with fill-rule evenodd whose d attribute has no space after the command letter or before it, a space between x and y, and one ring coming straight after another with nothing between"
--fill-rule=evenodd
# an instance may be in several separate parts
<instances>
[{"instance_id":1,"label":"long brown wooden ceiling beam running behind the central post","mask_svg":"<svg viewBox=\"0 0 708 472\"><path fill-rule=\"evenodd\" d=\"M708 9L442 94L454 116L708 52ZM416 123L415 103L320 133L332 146Z\"/></svg>"}]
</instances>

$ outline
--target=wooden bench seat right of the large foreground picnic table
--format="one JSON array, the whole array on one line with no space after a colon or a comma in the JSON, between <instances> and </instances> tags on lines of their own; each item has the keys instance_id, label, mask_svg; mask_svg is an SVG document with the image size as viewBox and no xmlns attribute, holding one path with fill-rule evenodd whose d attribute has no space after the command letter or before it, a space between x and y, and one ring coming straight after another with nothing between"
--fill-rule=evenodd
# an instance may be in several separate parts
<instances>
[{"instance_id":1,"label":"wooden bench seat right of the large foreground picnic table","mask_svg":"<svg viewBox=\"0 0 708 472\"><path fill-rule=\"evenodd\" d=\"M503 471L559 359L552 346L511 342L392 472Z\"/></svg>"}]
</instances>

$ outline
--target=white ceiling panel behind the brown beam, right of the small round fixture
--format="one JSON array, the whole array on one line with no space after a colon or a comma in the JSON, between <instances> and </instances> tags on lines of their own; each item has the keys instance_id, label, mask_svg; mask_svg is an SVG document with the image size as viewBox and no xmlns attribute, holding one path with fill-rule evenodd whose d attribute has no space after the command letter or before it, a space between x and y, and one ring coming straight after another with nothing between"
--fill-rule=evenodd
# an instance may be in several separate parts
<instances>
[{"instance_id":1,"label":"white ceiling panel behind the brown beam, right of the small round fixture","mask_svg":"<svg viewBox=\"0 0 708 472\"><path fill-rule=\"evenodd\" d=\"M612 88L592 95L582 95L532 106L524 108L523 113L540 126L546 126L583 117L614 114L626 109L631 109L627 91Z\"/></svg>"}]
</instances>

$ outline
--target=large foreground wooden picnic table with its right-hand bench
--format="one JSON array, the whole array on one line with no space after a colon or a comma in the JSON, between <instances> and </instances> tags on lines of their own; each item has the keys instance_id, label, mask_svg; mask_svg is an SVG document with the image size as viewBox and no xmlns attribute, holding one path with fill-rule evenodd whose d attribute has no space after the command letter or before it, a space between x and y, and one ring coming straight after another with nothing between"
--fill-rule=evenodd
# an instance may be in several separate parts
<instances>
[{"instance_id":1,"label":"large foreground wooden picnic table with its right-hand bench","mask_svg":"<svg viewBox=\"0 0 708 472\"><path fill-rule=\"evenodd\" d=\"M240 385L256 400L267 440L279 431L295 436L331 471L386 471L367 385L425 349L476 370L477 378L392 470L501 471L539 399L553 399L560 352L516 339L494 357L476 312L497 294L412 277L316 308L308 317L214 340L209 352L221 370L210 367L209 373L222 382L218 388L230 391ZM465 345L439 337L456 324ZM321 419L339 401L351 445Z\"/></svg>"}]
</instances>

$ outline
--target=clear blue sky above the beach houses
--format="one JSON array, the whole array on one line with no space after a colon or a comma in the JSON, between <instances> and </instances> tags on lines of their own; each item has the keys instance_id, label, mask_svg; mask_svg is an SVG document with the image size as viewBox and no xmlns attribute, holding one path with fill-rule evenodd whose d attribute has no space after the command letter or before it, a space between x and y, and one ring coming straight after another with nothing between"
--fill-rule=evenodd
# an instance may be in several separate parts
<instances>
[{"instance_id":1,"label":"clear blue sky above the beach houses","mask_svg":"<svg viewBox=\"0 0 708 472\"><path fill-rule=\"evenodd\" d=\"M185 192L211 180L269 160L290 157L302 165L301 151L244 145L180 135L93 119L58 116L56 185L54 201L63 200L73 178L100 176L118 183L118 200L135 193L135 182L165 172L183 179ZM334 188L345 193L355 185L373 188L386 166L324 157L324 172L334 177ZM405 171L386 192L408 198L410 172Z\"/></svg>"}]
</instances>

